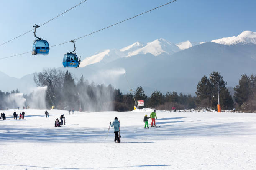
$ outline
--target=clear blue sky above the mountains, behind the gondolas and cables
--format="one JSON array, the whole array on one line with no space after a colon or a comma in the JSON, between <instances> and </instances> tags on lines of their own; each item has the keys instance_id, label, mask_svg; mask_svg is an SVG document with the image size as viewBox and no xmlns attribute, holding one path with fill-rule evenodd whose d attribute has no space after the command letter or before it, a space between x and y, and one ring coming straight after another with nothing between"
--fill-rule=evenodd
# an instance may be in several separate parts
<instances>
[{"instance_id":1,"label":"clear blue sky above the mountains, behind the gondolas and cables","mask_svg":"<svg viewBox=\"0 0 256 170\"><path fill-rule=\"evenodd\" d=\"M8 0L1 1L0 44L41 25L82 0ZM170 0L88 0L82 5L38 28L37 35L49 45L81 37L95 30L170 2ZM103 49L120 49L136 41L151 42L164 38L173 43L190 40L210 41L237 36L244 30L256 32L256 0L178 0L108 30L77 40L77 54L82 59ZM30 32L0 46L6 57L31 50ZM1 61L0 71L22 77L43 67L61 67L71 43L52 47L49 55L20 55Z\"/></svg>"}]
</instances>

